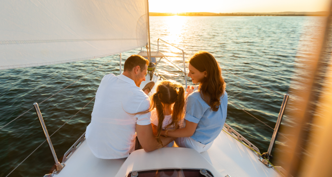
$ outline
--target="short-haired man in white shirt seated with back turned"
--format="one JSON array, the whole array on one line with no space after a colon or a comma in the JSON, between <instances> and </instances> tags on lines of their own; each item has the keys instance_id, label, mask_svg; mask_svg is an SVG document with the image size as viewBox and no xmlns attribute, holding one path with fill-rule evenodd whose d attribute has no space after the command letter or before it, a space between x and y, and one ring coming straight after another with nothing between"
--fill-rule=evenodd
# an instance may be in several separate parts
<instances>
[{"instance_id":1,"label":"short-haired man in white shirt seated with back turned","mask_svg":"<svg viewBox=\"0 0 332 177\"><path fill-rule=\"evenodd\" d=\"M128 157L135 150L137 138L146 152L161 148L162 145L153 135L151 113L132 115L150 107L148 92L139 88L145 80L148 64L147 59L133 55L125 61L123 74L107 74L102 78L91 123L85 133L87 144L95 157ZM174 138L161 137L161 140L163 144L168 144Z\"/></svg>"}]
</instances>

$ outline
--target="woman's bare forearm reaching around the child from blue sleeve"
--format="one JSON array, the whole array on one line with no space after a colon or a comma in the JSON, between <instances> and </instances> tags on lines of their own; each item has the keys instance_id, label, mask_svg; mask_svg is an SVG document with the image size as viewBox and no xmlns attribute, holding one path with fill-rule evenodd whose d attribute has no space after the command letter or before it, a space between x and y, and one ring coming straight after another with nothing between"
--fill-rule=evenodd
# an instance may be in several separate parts
<instances>
[{"instance_id":1,"label":"woman's bare forearm reaching around the child from blue sleeve","mask_svg":"<svg viewBox=\"0 0 332 177\"><path fill-rule=\"evenodd\" d=\"M185 120L185 124L186 125L184 128L176 129L174 131L168 131L167 135L166 135L166 131L162 131L161 135L169 136L169 137L176 137L176 138L190 137L194 134L198 123L194 123L194 122Z\"/></svg>"}]
</instances>

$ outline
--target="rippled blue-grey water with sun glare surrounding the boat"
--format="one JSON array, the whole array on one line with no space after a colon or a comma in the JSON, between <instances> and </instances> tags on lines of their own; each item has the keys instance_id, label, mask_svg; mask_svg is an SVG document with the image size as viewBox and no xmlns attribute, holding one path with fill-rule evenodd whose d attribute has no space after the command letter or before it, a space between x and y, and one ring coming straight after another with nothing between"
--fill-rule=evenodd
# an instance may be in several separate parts
<instances>
[{"instance_id":1,"label":"rippled blue-grey water with sun glare surrounding the boat","mask_svg":"<svg viewBox=\"0 0 332 177\"><path fill-rule=\"evenodd\" d=\"M296 87L296 72L301 70L295 68L301 66L302 59L310 58L309 51L318 38L317 32L323 29L324 17L152 16L150 21L152 51L157 50L158 38L183 48L186 60L197 51L207 51L218 60L221 68L285 94L291 85ZM125 60L139 51L126 52L122 58ZM180 67L183 66L179 50L161 42L160 51ZM114 57L0 70L0 126L32 108L33 103L41 103ZM165 59L157 70L167 79L184 85L184 75ZM118 57L39 105L50 134L93 99L101 78L108 73L119 73ZM223 77L229 101L274 128L283 96L225 70ZM188 84L192 85L190 78ZM58 158L62 158L85 131L93 103L52 136ZM282 123L287 125L291 122L291 119L284 118ZM267 151L272 129L231 103L226 123L258 147L260 152ZM44 140L33 109L1 129L0 177L6 176ZM282 145L284 142L277 143ZM48 145L44 143L11 176L42 177L50 173L53 164Z\"/></svg>"}]
</instances>

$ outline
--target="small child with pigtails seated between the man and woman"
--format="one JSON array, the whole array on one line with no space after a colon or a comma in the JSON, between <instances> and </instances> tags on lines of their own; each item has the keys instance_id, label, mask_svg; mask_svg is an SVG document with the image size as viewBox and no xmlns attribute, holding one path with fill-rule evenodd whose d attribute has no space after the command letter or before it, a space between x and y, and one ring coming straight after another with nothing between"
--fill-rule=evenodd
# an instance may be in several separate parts
<instances>
[{"instance_id":1,"label":"small child with pigtails seated between the man and woman","mask_svg":"<svg viewBox=\"0 0 332 177\"><path fill-rule=\"evenodd\" d=\"M178 89L177 89L178 88ZM162 81L151 96L151 123L153 132L158 140L162 130L172 131L179 127L184 116L184 88L169 81ZM165 147L172 147L174 141Z\"/></svg>"}]
</instances>

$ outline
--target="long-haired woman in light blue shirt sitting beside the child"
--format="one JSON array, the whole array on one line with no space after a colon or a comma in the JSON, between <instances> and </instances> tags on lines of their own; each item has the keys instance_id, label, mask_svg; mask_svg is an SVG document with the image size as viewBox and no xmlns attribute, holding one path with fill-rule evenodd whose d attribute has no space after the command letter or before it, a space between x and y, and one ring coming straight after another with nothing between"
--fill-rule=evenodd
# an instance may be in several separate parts
<instances>
[{"instance_id":1,"label":"long-haired woman in light blue shirt sitting beside the child","mask_svg":"<svg viewBox=\"0 0 332 177\"><path fill-rule=\"evenodd\" d=\"M195 90L188 88L185 127L162 131L162 135L178 137L179 147L208 150L221 132L227 116L226 83L216 59L208 52L198 52L189 60L189 73ZM192 92L192 93L191 93Z\"/></svg>"}]
</instances>

